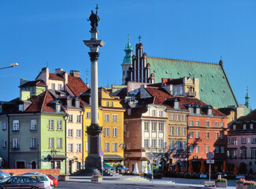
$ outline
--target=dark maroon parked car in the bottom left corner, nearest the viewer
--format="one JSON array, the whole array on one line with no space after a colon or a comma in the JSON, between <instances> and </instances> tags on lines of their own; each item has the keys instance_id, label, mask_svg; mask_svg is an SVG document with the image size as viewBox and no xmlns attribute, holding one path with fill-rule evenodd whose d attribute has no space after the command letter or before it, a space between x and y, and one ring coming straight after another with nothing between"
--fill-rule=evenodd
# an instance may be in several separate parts
<instances>
[{"instance_id":1,"label":"dark maroon parked car in the bottom left corner, nearest the viewer","mask_svg":"<svg viewBox=\"0 0 256 189\"><path fill-rule=\"evenodd\" d=\"M7 176L0 180L0 188L32 188L43 189L44 183L28 176Z\"/></svg>"}]
</instances>

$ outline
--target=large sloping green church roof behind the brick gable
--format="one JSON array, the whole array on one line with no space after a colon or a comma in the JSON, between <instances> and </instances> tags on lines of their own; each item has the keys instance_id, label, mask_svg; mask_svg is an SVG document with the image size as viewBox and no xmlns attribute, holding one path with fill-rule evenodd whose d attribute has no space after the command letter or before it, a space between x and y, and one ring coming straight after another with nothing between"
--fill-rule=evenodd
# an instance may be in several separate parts
<instances>
[{"instance_id":1,"label":"large sloping green church roof behind the brick gable","mask_svg":"<svg viewBox=\"0 0 256 189\"><path fill-rule=\"evenodd\" d=\"M147 63L155 83L160 83L161 78L195 77L199 79L202 102L217 107L239 106L222 65L159 57L147 57Z\"/></svg>"}]
</instances>

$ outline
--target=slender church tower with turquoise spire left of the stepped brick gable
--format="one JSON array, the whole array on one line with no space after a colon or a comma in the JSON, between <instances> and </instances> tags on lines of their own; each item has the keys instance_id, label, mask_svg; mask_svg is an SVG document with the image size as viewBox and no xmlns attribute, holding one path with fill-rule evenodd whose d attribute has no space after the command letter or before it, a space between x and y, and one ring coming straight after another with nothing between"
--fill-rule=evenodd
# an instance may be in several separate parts
<instances>
[{"instance_id":1,"label":"slender church tower with turquoise spire left of the stepped brick gable","mask_svg":"<svg viewBox=\"0 0 256 189\"><path fill-rule=\"evenodd\" d=\"M125 85L127 84L128 81L128 69L129 67L132 66L132 44L130 43L130 36L128 34L128 43L125 46L124 49L125 56L123 63L121 64L122 66L122 84Z\"/></svg>"}]
</instances>

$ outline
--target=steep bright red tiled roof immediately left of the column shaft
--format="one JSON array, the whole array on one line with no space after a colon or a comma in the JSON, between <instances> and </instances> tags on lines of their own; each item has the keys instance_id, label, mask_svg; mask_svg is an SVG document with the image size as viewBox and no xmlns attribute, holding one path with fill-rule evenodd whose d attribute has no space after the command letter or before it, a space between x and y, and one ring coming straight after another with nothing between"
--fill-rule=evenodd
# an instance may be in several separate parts
<instances>
[{"instance_id":1,"label":"steep bright red tiled roof immediately left of the column shaft","mask_svg":"<svg viewBox=\"0 0 256 189\"><path fill-rule=\"evenodd\" d=\"M80 96L81 93L84 93L88 90L88 87L80 77L74 77L69 74L68 76L68 87L72 91L72 93L76 96Z\"/></svg>"}]
</instances>

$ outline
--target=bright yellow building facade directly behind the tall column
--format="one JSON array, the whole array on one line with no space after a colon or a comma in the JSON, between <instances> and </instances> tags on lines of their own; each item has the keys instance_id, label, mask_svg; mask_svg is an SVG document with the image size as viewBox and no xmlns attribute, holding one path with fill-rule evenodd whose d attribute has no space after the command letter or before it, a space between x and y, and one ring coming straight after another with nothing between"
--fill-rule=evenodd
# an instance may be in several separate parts
<instances>
[{"instance_id":1,"label":"bright yellow building facade directly behind the tall column","mask_svg":"<svg viewBox=\"0 0 256 189\"><path fill-rule=\"evenodd\" d=\"M120 98L104 87L98 89L98 124L102 127L104 161L117 163L124 160L124 111ZM83 131L91 125L91 106L85 105ZM87 133L83 133L83 161L87 158Z\"/></svg>"}]
</instances>

